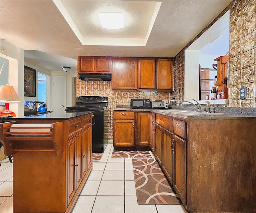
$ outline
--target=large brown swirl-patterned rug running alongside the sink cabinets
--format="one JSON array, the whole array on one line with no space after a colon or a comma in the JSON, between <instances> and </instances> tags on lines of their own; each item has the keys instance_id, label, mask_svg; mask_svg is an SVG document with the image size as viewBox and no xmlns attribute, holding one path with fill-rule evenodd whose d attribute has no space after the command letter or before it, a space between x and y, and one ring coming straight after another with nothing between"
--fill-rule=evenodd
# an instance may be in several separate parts
<instances>
[{"instance_id":1,"label":"large brown swirl-patterned rug running alongside the sink cabinets","mask_svg":"<svg viewBox=\"0 0 256 213\"><path fill-rule=\"evenodd\" d=\"M132 159L138 204L181 204L156 159Z\"/></svg>"}]
</instances>

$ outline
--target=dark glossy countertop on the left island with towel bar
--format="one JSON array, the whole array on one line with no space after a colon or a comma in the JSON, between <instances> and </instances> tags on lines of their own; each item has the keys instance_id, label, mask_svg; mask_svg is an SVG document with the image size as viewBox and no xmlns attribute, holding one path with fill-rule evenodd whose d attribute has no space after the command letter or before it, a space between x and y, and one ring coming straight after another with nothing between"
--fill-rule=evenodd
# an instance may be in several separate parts
<instances>
[{"instance_id":1,"label":"dark glossy countertop on the left island with towel bar","mask_svg":"<svg viewBox=\"0 0 256 213\"><path fill-rule=\"evenodd\" d=\"M52 112L52 113L45 113L40 115L27 115L23 117L11 117L8 120L20 120L20 119L31 119L31 120L38 120L38 119L50 119L50 120L68 120L72 119L74 117L78 117L80 115L86 115L89 113L94 113L94 111L85 111L85 112L76 112L76 113L70 113L70 112Z\"/></svg>"}]
</instances>

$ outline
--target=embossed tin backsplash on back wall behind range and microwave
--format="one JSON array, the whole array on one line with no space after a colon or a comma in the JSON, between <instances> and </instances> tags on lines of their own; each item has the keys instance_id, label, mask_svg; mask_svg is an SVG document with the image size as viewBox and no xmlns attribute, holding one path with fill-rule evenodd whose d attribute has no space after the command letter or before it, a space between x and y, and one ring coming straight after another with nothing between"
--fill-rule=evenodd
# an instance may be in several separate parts
<instances>
[{"instance_id":1,"label":"embossed tin backsplash on back wall behind range and microwave","mask_svg":"<svg viewBox=\"0 0 256 213\"><path fill-rule=\"evenodd\" d=\"M82 81L77 78L77 96L108 97L108 140L113 140L113 109L116 106L130 106L131 98L149 98L150 100L169 100L169 92L113 91L109 81ZM159 95L159 96L158 96Z\"/></svg>"}]
</instances>

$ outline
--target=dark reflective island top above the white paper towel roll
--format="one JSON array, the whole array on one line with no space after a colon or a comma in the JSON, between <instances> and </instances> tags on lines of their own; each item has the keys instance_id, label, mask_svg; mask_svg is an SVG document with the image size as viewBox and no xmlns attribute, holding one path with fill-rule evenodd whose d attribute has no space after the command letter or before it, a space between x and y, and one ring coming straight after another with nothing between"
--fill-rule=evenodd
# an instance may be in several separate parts
<instances>
[{"instance_id":1,"label":"dark reflective island top above the white paper towel roll","mask_svg":"<svg viewBox=\"0 0 256 213\"><path fill-rule=\"evenodd\" d=\"M73 113L73 112L65 112L65 115L70 115L70 116L54 116L54 117L51 117L50 116L50 113L47 113L47 114L40 114L40 115L34 115L33 117L28 117L28 116L24 116L24 117L11 117L8 119L8 121L12 121L12 120L41 120L41 119L47 119L47 120L68 120L68 119L72 119L72 118L75 118L75 117L79 117L79 116L82 116L82 115L87 115L87 114L90 114L90 113L94 113L94 111L85 111L85 112L76 112L76 113ZM48 117L40 117L41 115L48 115Z\"/></svg>"}]
</instances>

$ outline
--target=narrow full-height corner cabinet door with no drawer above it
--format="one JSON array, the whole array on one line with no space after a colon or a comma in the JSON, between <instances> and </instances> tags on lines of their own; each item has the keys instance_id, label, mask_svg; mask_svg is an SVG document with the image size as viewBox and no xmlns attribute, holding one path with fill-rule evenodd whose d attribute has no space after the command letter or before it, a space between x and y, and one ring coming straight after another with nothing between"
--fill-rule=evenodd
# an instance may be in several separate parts
<instances>
[{"instance_id":1,"label":"narrow full-height corner cabinet door with no drawer above it","mask_svg":"<svg viewBox=\"0 0 256 213\"><path fill-rule=\"evenodd\" d=\"M137 113L137 145L148 146L150 142L150 114L149 112Z\"/></svg>"}]
</instances>

